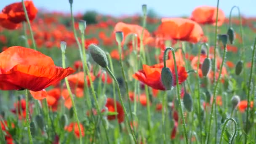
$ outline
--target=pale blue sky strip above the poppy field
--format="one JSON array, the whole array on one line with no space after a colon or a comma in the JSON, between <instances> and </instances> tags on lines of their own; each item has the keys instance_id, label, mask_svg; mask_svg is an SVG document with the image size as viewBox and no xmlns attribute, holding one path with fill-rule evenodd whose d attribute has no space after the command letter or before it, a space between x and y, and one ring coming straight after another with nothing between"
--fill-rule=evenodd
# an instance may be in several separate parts
<instances>
[{"instance_id":1,"label":"pale blue sky strip above the poppy field","mask_svg":"<svg viewBox=\"0 0 256 144\"><path fill-rule=\"evenodd\" d=\"M10 3L21 0L1 0L0 9ZM189 16L193 9L200 5L216 6L217 0L73 0L74 12L85 12L96 10L99 13L114 16L131 15L141 13L141 5L147 4L148 8L154 9L157 14L163 17ZM33 0L37 8L44 8L49 11L61 11L69 13L68 0ZM233 5L240 8L243 16L256 16L256 0L220 0L219 6L225 15ZM234 11L237 15L237 11Z\"/></svg>"}]
</instances>

